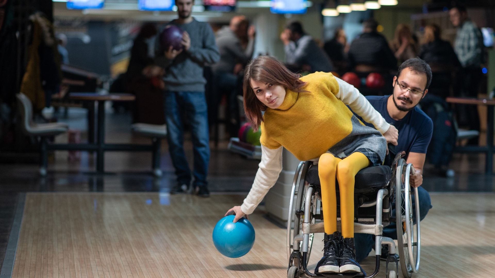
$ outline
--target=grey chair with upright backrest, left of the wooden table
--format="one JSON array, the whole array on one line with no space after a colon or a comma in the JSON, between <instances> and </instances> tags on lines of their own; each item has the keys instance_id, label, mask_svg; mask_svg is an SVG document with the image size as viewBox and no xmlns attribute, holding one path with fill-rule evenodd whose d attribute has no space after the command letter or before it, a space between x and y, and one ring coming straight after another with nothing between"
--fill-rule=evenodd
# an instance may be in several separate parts
<instances>
[{"instance_id":1,"label":"grey chair with upright backrest, left of the wooden table","mask_svg":"<svg viewBox=\"0 0 495 278\"><path fill-rule=\"evenodd\" d=\"M40 175L47 175L47 137L67 132L69 127L63 123L37 124L33 122L33 105L23 94L16 95L21 114L22 131L28 136L36 136L40 140Z\"/></svg>"}]
</instances>

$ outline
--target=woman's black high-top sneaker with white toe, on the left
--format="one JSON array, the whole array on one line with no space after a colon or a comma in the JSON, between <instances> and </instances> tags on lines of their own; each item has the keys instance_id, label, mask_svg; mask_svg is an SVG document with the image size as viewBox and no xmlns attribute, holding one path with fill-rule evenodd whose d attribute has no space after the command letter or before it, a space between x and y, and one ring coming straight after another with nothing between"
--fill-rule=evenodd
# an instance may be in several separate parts
<instances>
[{"instance_id":1,"label":"woman's black high-top sneaker with white toe, on the left","mask_svg":"<svg viewBox=\"0 0 495 278\"><path fill-rule=\"evenodd\" d=\"M325 246L323 247L323 257L316 264L316 273L338 273L339 272L339 247L340 236L339 232L326 234L323 238Z\"/></svg>"}]
</instances>

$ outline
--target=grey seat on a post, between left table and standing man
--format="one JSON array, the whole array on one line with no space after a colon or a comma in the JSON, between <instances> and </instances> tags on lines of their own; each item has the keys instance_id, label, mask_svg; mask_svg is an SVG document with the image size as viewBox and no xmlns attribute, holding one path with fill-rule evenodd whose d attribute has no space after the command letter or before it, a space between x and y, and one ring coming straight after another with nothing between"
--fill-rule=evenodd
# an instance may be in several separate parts
<instances>
[{"instance_id":1,"label":"grey seat on a post, between left table and standing man","mask_svg":"<svg viewBox=\"0 0 495 278\"><path fill-rule=\"evenodd\" d=\"M132 125L131 129L135 134L151 138L153 145L153 158L151 162L153 175L155 177L161 177L162 171L160 169L160 146L161 139L167 136L166 125L136 123Z\"/></svg>"}]
</instances>

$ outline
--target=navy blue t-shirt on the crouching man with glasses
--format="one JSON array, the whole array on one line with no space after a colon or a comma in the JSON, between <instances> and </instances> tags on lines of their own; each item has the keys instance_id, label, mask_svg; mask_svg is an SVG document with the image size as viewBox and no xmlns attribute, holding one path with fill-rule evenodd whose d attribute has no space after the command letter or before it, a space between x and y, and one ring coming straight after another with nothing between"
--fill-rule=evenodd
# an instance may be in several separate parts
<instances>
[{"instance_id":1,"label":"navy blue t-shirt on the crouching man with glasses","mask_svg":"<svg viewBox=\"0 0 495 278\"><path fill-rule=\"evenodd\" d=\"M395 126L398 130L399 138L397 140L396 151L405 151L407 155L409 152L426 153L433 133L432 120L417 106L409 111L404 118L398 121L392 119L387 110L389 96L368 95L366 99L382 114L387 123ZM372 124L364 122L357 114L355 115L365 125L374 127Z\"/></svg>"}]
</instances>

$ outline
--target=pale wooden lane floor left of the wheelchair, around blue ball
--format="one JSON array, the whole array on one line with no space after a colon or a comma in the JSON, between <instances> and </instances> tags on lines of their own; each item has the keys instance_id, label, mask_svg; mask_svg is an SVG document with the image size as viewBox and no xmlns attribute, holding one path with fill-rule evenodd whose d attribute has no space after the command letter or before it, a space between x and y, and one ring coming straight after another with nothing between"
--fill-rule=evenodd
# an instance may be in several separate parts
<instances>
[{"instance_id":1,"label":"pale wooden lane floor left of the wheelchair, around blue ball","mask_svg":"<svg viewBox=\"0 0 495 278\"><path fill-rule=\"evenodd\" d=\"M216 222L243 198L28 193L12 277L286 277L286 230L260 213L247 255L215 249Z\"/></svg>"}]
</instances>

